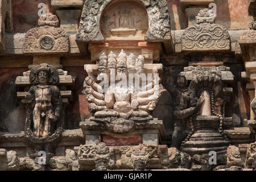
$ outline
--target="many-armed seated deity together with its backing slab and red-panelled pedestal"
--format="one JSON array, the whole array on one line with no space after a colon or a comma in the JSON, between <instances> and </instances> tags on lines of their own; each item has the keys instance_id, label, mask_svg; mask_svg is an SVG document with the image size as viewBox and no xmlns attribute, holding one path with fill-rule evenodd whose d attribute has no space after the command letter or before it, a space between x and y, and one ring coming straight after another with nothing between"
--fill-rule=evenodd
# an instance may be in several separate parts
<instances>
[{"instance_id":1,"label":"many-armed seated deity together with its backing slab and red-panelled pedestal","mask_svg":"<svg viewBox=\"0 0 256 182\"><path fill-rule=\"evenodd\" d=\"M130 53L127 56L122 50L118 56L113 52L108 56L102 53L98 65L85 65L85 71L88 77L84 81L83 93L93 114L80 122L86 144L158 144L159 139L165 139L163 121L152 117L162 93L167 92L160 79L156 81L156 73L161 78L162 64L144 64L142 55L137 57ZM137 81L131 79L129 82L131 76L141 73L152 75L146 80L135 78ZM104 85L101 85L102 76ZM120 76L127 78L127 82L118 81Z\"/></svg>"}]
</instances>

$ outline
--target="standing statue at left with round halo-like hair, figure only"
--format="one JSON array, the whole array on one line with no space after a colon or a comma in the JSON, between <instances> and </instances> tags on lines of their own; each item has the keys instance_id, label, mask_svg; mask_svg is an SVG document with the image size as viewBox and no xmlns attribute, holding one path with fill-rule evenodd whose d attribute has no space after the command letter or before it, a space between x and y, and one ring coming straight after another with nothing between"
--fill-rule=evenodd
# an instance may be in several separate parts
<instances>
[{"instance_id":1,"label":"standing statue at left with round halo-like hair, figure only","mask_svg":"<svg viewBox=\"0 0 256 182\"><path fill-rule=\"evenodd\" d=\"M60 90L55 86L59 82L57 70L41 64L32 69L30 82L33 86L23 102L30 104L35 137L46 138L55 132L55 123L60 119L62 100Z\"/></svg>"}]
</instances>

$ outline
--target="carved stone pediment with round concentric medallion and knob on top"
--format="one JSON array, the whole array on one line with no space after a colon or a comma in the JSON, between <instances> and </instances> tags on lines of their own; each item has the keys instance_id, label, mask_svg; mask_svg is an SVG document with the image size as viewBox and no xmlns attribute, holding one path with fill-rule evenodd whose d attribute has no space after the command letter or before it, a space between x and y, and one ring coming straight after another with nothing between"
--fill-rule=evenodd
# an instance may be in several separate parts
<instances>
[{"instance_id":1,"label":"carved stone pediment with round concentric medallion and knob on top","mask_svg":"<svg viewBox=\"0 0 256 182\"><path fill-rule=\"evenodd\" d=\"M23 53L65 53L69 51L68 33L62 28L56 28L59 20L56 15L42 15L38 24L40 27L27 31L24 37Z\"/></svg>"}]
</instances>

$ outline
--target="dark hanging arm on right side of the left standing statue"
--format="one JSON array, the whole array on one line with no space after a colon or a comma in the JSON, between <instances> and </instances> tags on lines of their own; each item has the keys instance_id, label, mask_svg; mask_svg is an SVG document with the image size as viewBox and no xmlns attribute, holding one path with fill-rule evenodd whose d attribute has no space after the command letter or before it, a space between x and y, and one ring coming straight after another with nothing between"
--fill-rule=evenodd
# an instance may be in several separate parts
<instances>
[{"instance_id":1,"label":"dark hanging arm on right side of the left standing statue","mask_svg":"<svg viewBox=\"0 0 256 182\"><path fill-rule=\"evenodd\" d=\"M60 118L62 98L60 96L60 89L57 86L51 86L52 93L52 105L55 109L55 118L53 120L58 120Z\"/></svg>"}]
</instances>

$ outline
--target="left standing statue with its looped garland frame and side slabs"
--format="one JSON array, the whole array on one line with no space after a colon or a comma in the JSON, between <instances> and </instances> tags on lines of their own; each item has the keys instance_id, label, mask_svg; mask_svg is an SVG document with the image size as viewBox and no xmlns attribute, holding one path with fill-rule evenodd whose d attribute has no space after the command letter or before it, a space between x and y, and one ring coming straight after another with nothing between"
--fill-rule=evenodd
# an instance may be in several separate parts
<instances>
[{"instance_id":1,"label":"left standing statue with its looped garland frame and side slabs","mask_svg":"<svg viewBox=\"0 0 256 182\"><path fill-rule=\"evenodd\" d=\"M23 90L17 92L17 97L27 109L26 144L35 152L55 153L63 133L65 107L72 100L72 76L52 65L40 64L16 77L15 85Z\"/></svg>"}]
</instances>

